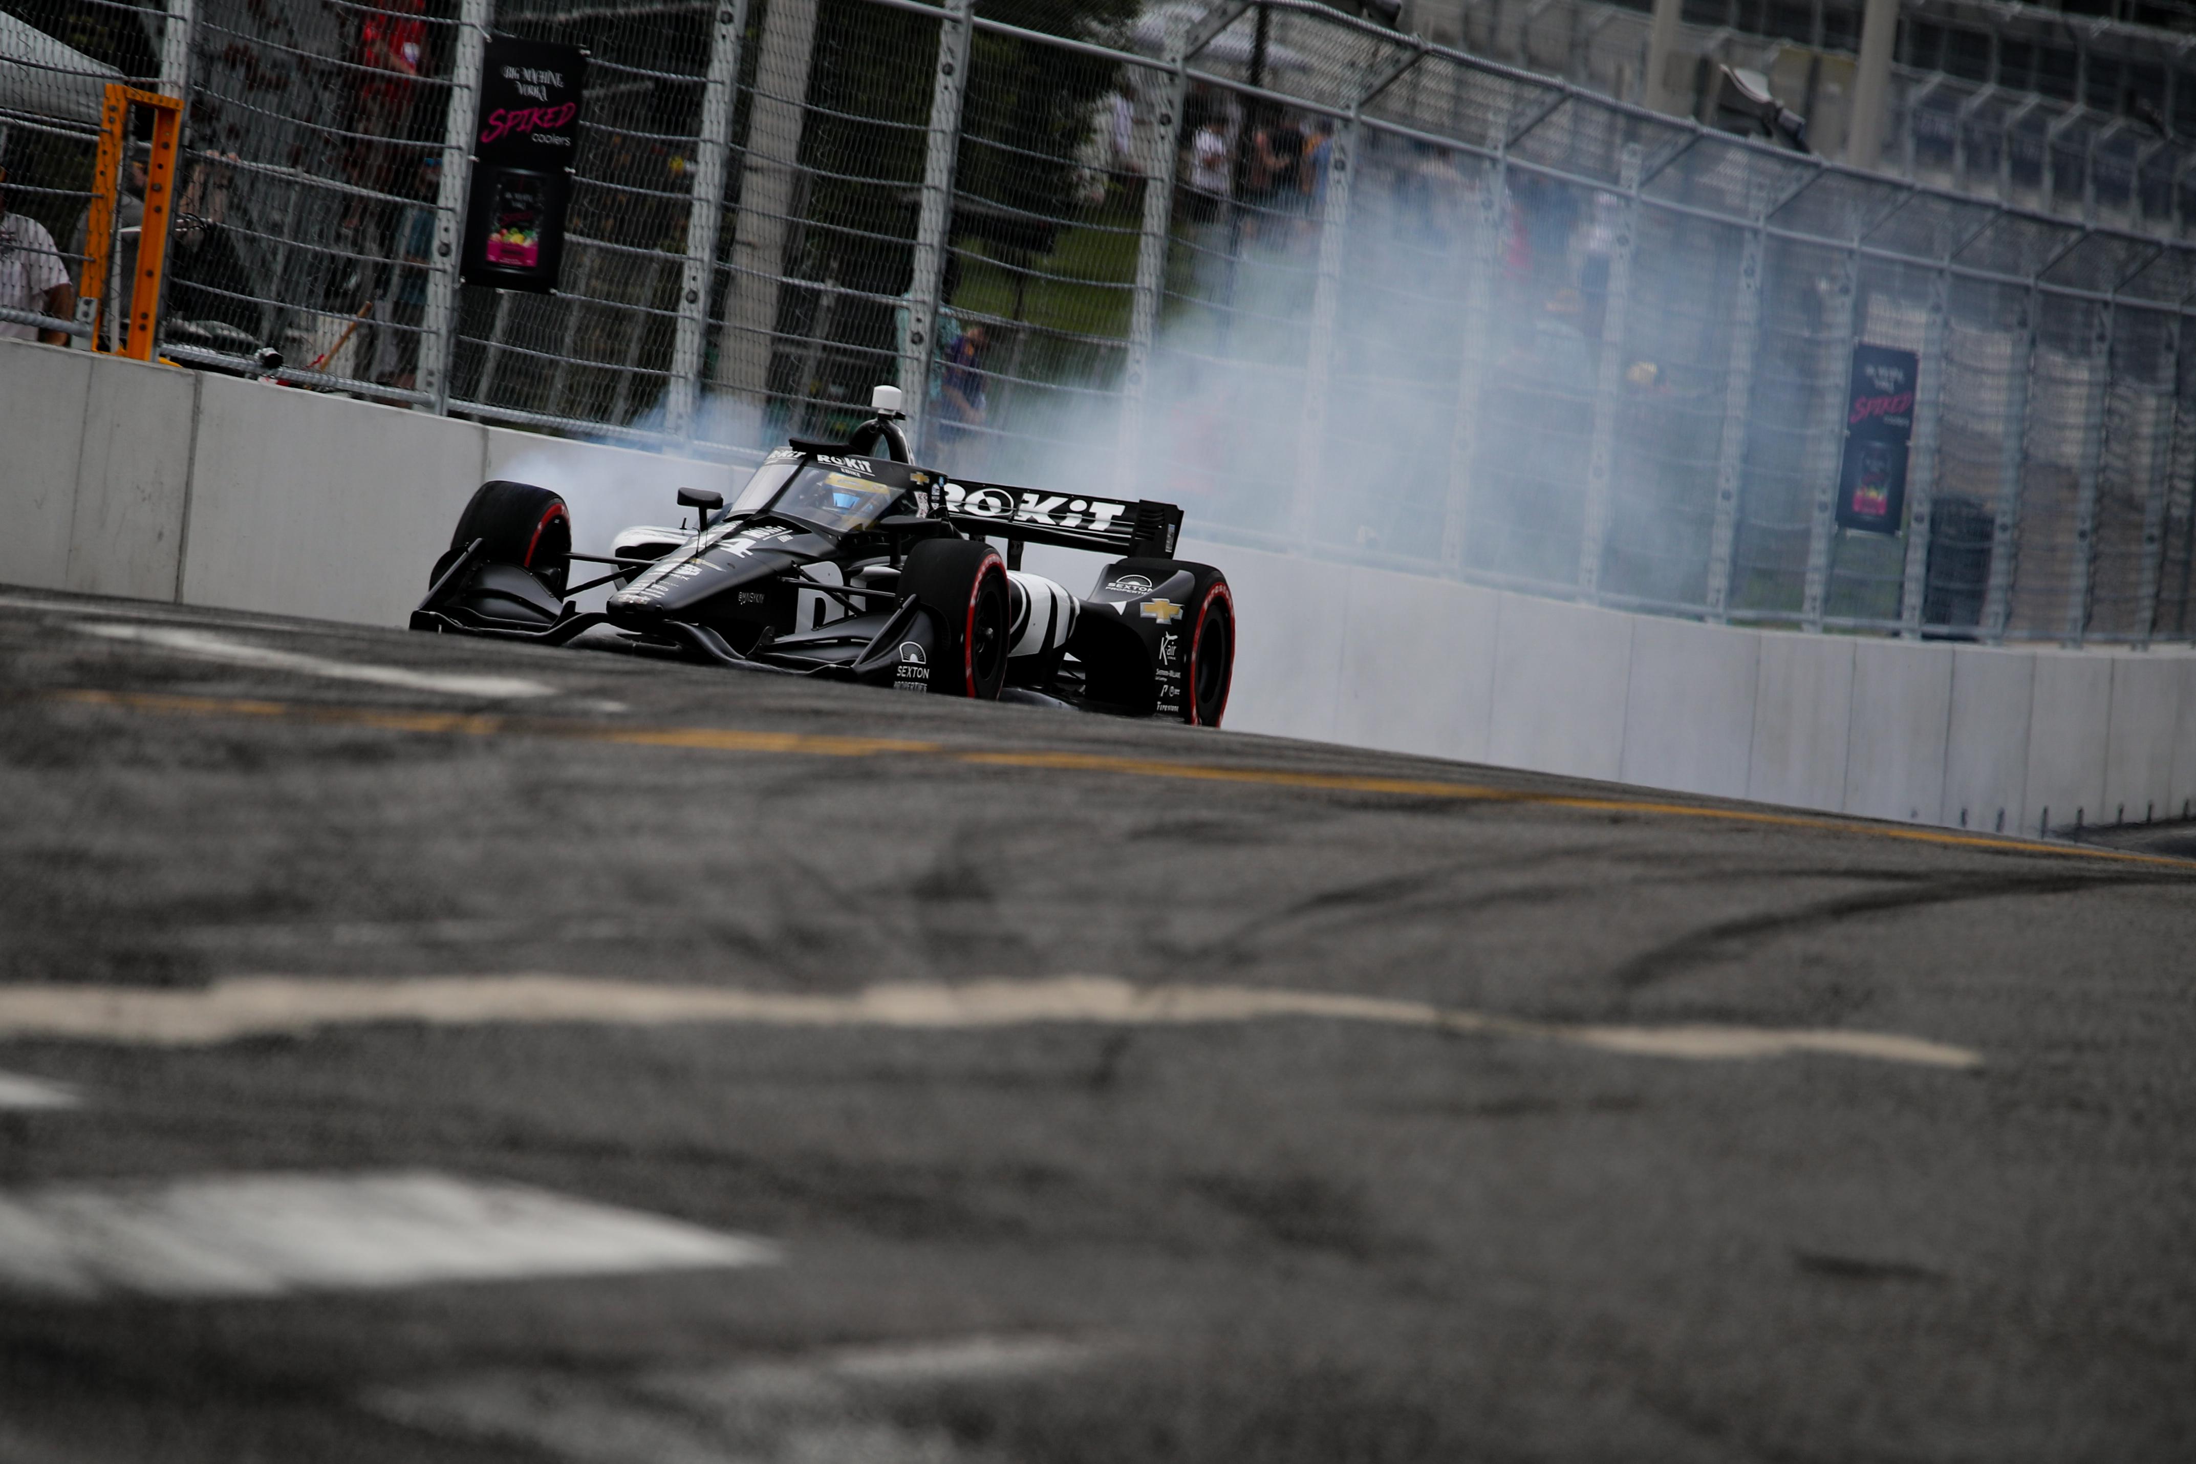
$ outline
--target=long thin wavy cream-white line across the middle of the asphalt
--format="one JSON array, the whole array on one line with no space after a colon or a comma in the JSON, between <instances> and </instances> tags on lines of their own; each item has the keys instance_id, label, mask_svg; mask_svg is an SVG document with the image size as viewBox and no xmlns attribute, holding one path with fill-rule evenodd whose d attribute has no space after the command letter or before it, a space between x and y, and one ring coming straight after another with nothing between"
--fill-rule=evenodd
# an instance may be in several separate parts
<instances>
[{"instance_id":1,"label":"long thin wavy cream-white line across the middle of the asphalt","mask_svg":"<svg viewBox=\"0 0 2196 1464\"><path fill-rule=\"evenodd\" d=\"M1689 1060L1829 1054L1924 1067L1976 1067L1981 1054L1891 1032L1735 1025L1568 1025L1250 986L1131 986L1113 977L867 986L845 996L722 986L650 986L584 977L419 977L343 981L239 977L200 990L143 986L0 988L0 1038L79 1038L195 1047L259 1034L417 1021L479 1023L749 1023L766 1027L1021 1027L1030 1023L1199 1025L1324 1018L1539 1038L1599 1051Z\"/></svg>"}]
</instances>

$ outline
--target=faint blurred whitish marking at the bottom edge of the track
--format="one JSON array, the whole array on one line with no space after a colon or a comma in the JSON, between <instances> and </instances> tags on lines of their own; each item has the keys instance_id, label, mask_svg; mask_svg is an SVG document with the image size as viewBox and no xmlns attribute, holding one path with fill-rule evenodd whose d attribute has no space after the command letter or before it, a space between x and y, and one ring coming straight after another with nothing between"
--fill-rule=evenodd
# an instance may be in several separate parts
<instances>
[{"instance_id":1,"label":"faint blurred whitish marking at the bottom edge of the track","mask_svg":"<svg viewBox=\"0 0 2196 1464\"><path fill-rule=\"evenodd\" d=\"M889 1405L1091 1354L1056 1337L962 1337L624 1378L488 1372L378 1387L365 1405L428 1433L531 1444L573 1464L955 1464L997 1455L894 1422Z\"/></svg>"}]
</instances>

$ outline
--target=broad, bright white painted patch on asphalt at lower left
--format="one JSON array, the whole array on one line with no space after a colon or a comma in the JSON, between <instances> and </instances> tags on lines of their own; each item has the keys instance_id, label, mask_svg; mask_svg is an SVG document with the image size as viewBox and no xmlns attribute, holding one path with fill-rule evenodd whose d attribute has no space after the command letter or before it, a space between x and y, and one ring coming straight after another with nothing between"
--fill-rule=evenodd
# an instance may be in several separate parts
<instances>
[{"instance_id":1,"label":"broad, bright white painted patch on asphalt at lower left","mask_svg":"<svg viewBox=\"0 0 2196 1464\"><path fill-rule=\"evenodd\" d=\"M66 1297L264 1297L775 1260L762 1240L433 1172L235 1174L0 1194L0 1286Z\"/></svg>"}]
</instances>

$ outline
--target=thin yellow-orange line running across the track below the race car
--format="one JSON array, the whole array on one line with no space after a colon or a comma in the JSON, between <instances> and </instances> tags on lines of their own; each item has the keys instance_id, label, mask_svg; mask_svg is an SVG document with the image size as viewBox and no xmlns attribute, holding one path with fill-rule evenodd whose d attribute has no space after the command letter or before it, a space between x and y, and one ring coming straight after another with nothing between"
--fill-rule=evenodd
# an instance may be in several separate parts
<instances>
[{"instance_id":1,"label":"thin yellow-orange line running across the track below the race car","mask_svg":"<svg viewBox=\"0 0 2196 1464\"><path fill-rule=\"evenodd\" d=\"M602 722L507 718L452 711L378 711L371 707L327 707L305 702L266 702L222 696L173 696L156 691L53 691L51 700L90 707L123 707L169 716L244 716L285 718L332 727L371 727L376 731L463 733L470 737L534 735L575 742L613 742L626 746L679 746L709 753L793 753L806 757L870 757L876 753L925 753L949 762L990 768L1043 768L1050 773L1111 773L1124 777L1166 777L1252 788L1302 788L1313 792L1379 792L1408 799L1456 799L1467 803L1531 803L1535 808L1575 808L1610 814L1660 814L1665 819L1708 819L1715 823L1755 823L1796 827L1867 838L1904 838L1908 843L1952 849L1987 849L1996 854L2055 854L2060 858L2095 858L2126 865L2161 865L2196 869L2196 860L2167 854L2128 854L2093 845L2044 843L2038 838L2005 838L1998 834L1957 834L1950 830L1900 827L1864 823L1836 814L1763 812L1752 808L1702 808L1698 803L1662 803L1654 799L1581 797L1531 792L1522 788L1489 788L1484 784L1447 784L1410 777L1362 777L1353 773L1291 773L1287 768L1228 768L1206 762L1173 762L1157 757L1111 757L1102 753L955 753L942 742L907 742L896 737L830 737L815 733L764 733L736 727L608 727Z\"/></svg>"}]
</instances>

